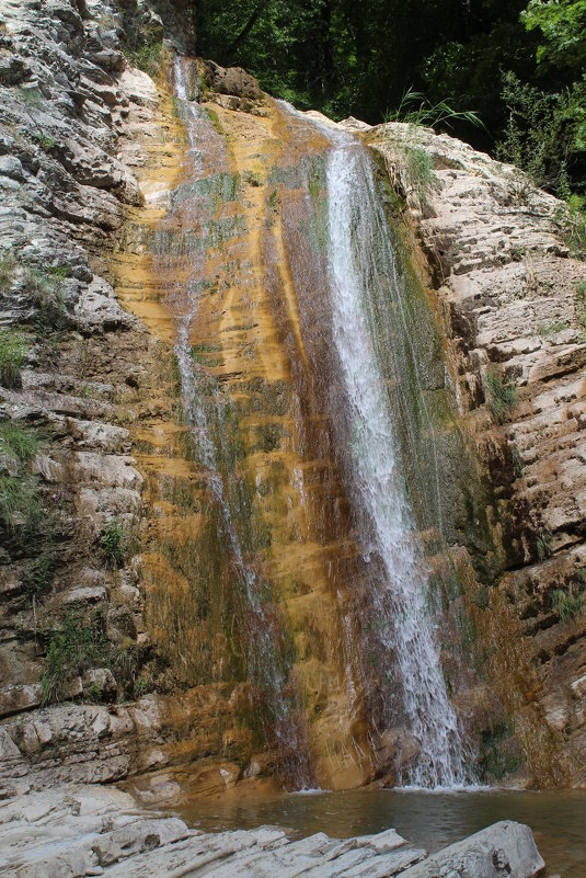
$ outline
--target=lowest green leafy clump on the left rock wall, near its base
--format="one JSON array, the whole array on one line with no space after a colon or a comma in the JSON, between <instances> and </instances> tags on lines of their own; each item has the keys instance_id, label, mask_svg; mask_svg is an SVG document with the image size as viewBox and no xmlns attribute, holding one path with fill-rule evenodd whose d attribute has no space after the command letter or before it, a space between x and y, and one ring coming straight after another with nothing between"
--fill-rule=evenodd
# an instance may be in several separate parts
<instances>
[{"instance_id":1,"label":"lowest green leafy clump on the left rock wall, near its base","mask_svg":"<svg viewBox=\"0 0 586 878\"><path fill-rule=\"evenodd\" d=\"M58 702L69 680L95 664L108 660L108 640L103 611L89 618L70 611L62 629L54 631L47 645L46 669L43 676L43 704Z\"/></svg>"}]
</instances>

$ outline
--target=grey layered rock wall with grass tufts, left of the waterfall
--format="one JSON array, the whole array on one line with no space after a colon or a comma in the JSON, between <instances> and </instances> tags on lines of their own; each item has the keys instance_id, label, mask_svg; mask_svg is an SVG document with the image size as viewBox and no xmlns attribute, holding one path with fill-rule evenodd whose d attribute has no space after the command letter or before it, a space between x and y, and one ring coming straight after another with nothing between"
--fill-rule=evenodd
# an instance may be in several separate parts
<instances>
[{"instance_id":1,"label":"grey layered rock wall with grass tufts, left of the waterfall","mask_svg":"<svg viewBox=\"0 0 586 878\"><path fill-rule=\"evenodd\" d=\"M137 28L160 27L134 12ZM143 202L141 138L164 141L162 92L125 61L123 13L81 0L0 7L4 793L123 778L164 762L150 744L179 728L199 736L198 754L217 746L202 744L205 722L193 732L205 696L119 706L161 670L139 558L156 463L137 466L131 451L162 430L166 455L161 424L172 429L177 407L170 338L120 307L108 269Z\"/></svg>"}]
</instances>

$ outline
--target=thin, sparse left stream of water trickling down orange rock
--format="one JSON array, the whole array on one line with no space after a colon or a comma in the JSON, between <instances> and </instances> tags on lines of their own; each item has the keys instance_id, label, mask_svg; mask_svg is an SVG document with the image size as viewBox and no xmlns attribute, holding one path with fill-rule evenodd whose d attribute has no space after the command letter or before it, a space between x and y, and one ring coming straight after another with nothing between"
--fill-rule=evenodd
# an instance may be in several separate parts
<instances>
[{"instance_id":1,"label":"thin, sparse left stream of water trickling down orange rock","mask_svg":"<svg viewBox=\"0 0 586 878\"><path fill-rule=\"evenodd\" d=\"M214 129L205 111L189 99L195 90L193 64L177 57L175 61L175 93L189 139L194 179L202 176L198 156L209 147ZM219 139L216 135L216 139ZM222 147L220 147L222 148ZM200 206L196 207L197 223L205 226ZM205 237L206 229L199 229ZM262 581L256 571L244 560L229 500L226 472L221 457L225 448L221 429L226 408L230 407L217 383L210 380L206 369L192 356L189 332L197 319L197 295L193 294L193 281L202 271L206 253L197 248L189 254L191 273L180 284L176 294L177 340L175 355L181 375L184 422L189 429L195 456L206 470L208 488L216 510L219 512L220 538L223 550L231 557L232 577L241 595L241 619L246 673L250 682L263 695L265 709L260 711L260 721L265 737L278 750L280 774L284 783L294 788L313 788L315 779L311 769L308 742L300 719L295 682L290 679L290 666L283 653L283 631L278 615L274 612L268 583ZM219 447L218 440L219 436ZM216 437L216 438L215 438ZM230 451L227 451L227 455Z\"/></svg>"}]
</instances>

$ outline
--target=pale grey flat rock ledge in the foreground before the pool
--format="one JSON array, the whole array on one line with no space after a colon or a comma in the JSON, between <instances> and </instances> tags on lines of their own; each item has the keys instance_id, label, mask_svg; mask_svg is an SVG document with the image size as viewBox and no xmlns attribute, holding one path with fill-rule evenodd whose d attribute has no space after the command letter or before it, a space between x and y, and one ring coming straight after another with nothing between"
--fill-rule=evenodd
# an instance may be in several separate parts
<instances>
[{"instance_id":1,"label":"pale grey flat rock ledge in the foreground before the pool","mask_svg":"<svg viewBox=\"0 0 586 878\"><path fill-rule=\"evenodd\" d=\"M110 787L66 786L0 807L7 878L532 878L544 868L531 831L503 821L433 856L394 830L291 840L276 826L205 833L136 808Z\"/></svg>"}]
</instances>

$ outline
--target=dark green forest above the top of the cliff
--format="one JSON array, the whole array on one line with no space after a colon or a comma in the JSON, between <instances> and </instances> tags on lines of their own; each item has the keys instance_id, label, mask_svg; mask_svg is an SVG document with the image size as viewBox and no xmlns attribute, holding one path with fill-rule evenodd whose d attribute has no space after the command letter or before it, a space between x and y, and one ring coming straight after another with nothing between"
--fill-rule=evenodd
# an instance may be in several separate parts
<instances>
[{"instance_id":1,"label":"dark green forest above the top of the cliff","mask_svg":"<svg viewBox=\"0 0 586 878\"><path fill-rule=\"evenodd\" d=\"M370 123L434 122L444 102L436 128L584 208L586 0L197 0L196 14L198 53L272 94Z\"/></svg>"}]
</instances>

